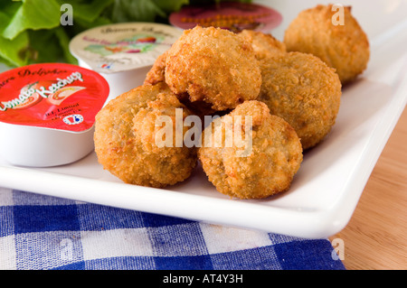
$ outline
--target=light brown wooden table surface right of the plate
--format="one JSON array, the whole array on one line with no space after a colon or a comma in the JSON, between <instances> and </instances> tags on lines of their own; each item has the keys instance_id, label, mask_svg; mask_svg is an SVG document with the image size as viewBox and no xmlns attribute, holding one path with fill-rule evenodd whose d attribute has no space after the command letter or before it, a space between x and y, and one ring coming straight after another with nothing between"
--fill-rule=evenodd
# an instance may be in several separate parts
<instances>
[{"instance_id":1,"label":"light brown wooden table surface right of the plate","mask_svg":"<svg viewBox=\"0 0 407 288\"><path fill-rule=\"evenodd\" d=\"M348 270L407 269L407 109L364 187L347 226L330 240L344 244Z\"/></svg>"}]
</instances>

